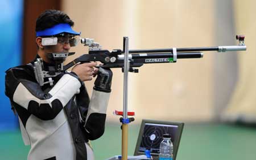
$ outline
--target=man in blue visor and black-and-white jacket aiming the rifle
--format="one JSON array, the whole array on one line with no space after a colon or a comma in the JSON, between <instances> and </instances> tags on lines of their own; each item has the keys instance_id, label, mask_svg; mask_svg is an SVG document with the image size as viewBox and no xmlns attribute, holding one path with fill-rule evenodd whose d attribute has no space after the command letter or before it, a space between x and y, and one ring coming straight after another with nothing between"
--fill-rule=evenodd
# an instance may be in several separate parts
<instances>
[{"instance_id":1,"label":"man in blue visor and black-and-white jacket aiming the rifle","mask_svg":"<svg viewBox=\"0 0 256 160\"><path fill-rule=\"evenodd\" d=\"M36 59L42 58L45 71L55 66L49 53L68 53L75 46L80 33L73 24L57 10L46 10L36 20ZM57 38L56 44L47 45L47 38ZM31 145L27 159L94 159L88 140L104 133L112 72L94 68L96 62L77 64L41 86L33 68L36 59L6 71L6 96L18 114L24 144ZM83 81L96 75L90 101Z\"/></svg>"}]
</instances>

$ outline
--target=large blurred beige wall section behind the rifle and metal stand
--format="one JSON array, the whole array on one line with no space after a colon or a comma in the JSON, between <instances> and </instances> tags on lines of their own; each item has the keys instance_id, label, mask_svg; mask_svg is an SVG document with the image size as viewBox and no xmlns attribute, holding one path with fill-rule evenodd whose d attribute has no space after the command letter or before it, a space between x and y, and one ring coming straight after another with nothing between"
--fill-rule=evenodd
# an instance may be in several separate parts
<instances>
[{"instance_id":1,"label":"large blurred beige wall section behind the rifle and metal stand","mask_svg":"<svg viewBox=\"0 0 256 160\"><path fill-rule=\"evenodd\" d=\"M63 1L63 10L75 21L82 37L94 38L104 49L213 46L214 1ZM77 54L88 52L80 45ZM139 119L209 121L214 118L214 55L182 59L176 64L146 64L129 74L129 110ZM123 75L113 69L108 120L122 110ZM91 92L93 81L86 82Z\"/></svg>"}]
</instances>

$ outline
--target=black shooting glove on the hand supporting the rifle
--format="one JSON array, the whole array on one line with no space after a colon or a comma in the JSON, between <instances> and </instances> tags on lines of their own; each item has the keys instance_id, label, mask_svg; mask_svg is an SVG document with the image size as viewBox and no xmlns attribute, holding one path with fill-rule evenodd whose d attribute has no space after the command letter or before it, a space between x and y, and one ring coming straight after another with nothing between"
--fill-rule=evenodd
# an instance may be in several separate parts
<instances>
[{"instance_id":1,"label":"black shooting glove on the hand supporting the rifle","mask_svg":"<svg viewBox=\"0 0 256 160\"><path fill-rule=\"evenodd\" d=\"M111 82L112 82L112 71L108 68L99 68L97 79L94 82L94 90L101 92L111 92Z\"/></svg>"}]
</instances>

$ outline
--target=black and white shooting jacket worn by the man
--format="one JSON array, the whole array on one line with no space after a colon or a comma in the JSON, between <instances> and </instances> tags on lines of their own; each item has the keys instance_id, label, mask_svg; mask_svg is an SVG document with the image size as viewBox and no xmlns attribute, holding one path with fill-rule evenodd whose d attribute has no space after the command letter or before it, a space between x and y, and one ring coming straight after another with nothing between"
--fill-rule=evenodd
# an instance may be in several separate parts
<instances>
[{"instance_id":1,"label":"black and white shooting jacket worn by the man","mask_svg":"<svg viewBox=\"0 0 256 160\"><path fill-rule=\"evenodd\" d=\"M36 57L38 58L38 56ZM104 133L109 94L93 90L91 100L73 72L40 87L30 64L6 71L6 96L18 114L28 160L94 159L88 140ZM44 62L44 68L51 64Z\"/></svg>"}]
</instances>

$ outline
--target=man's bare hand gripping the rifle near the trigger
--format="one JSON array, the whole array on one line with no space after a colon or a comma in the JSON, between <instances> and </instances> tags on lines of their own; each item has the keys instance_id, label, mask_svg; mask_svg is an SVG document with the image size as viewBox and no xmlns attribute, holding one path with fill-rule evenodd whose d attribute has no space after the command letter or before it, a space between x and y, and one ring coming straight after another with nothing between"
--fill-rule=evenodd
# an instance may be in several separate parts
<instances>
[{"instance_id":1,"label":"man's bare hand gripping the rifle near the trigger","mask_svg":"<svg viewBox=\"0 0 256 160\"><path fill-rule=\"evenodd\" d=\"M92 76L94 73L93 67L96 66L96 62L77 64L75 67L72 68L72 72L75 72L76 75L79 76L81 81L90 81L92 80Z\"/></svg>"}]
</instances>

